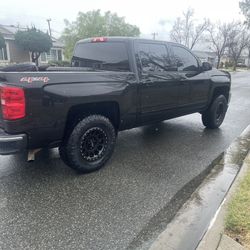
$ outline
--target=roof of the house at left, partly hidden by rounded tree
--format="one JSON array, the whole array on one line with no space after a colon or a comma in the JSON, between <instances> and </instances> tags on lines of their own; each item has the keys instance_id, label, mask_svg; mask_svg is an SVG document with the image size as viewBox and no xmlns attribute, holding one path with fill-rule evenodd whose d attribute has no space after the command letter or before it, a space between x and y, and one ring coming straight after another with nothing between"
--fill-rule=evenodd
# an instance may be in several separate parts
<instances>
[{"instance_id":1,"label":"roof of the house at left, partly hidden by rounded tree","mask_svg":"<svg viewBox=\"0 0 250 250\"><path fill-rule=\"evenodd\" d=\"M0 24L0 33L3 35L5 40L15 40L15 33L19 30L27 30L27 28L21 28L14 25L2 25ZM55 37L52 38L52 43L54 48L63 48L63 42L59 41Z\"/></svg>"}]
</instances>

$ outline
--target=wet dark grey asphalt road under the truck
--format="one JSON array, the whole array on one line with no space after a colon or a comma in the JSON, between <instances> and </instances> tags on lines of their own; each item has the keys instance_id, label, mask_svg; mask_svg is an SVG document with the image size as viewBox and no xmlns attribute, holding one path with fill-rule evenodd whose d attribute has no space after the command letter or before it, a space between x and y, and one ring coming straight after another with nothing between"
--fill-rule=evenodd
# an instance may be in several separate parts
<instances>
[{"instance_id":1,"label":"wet dark grey asphalt road under the truck","mask_svg":"<svg viewBox=\"0 0 250 250\"><path fill-rule=\"evenodd\" d=\"M56 150L35 163L1 156L0 249L144 248L144 232L156 236L165 226L158 215L176 211L171 198L250 124L250 73L232 76L220 129L206 130L194 114L121 132L111 161L96 173L77 175Z\"/></svg>"}]
</instances>

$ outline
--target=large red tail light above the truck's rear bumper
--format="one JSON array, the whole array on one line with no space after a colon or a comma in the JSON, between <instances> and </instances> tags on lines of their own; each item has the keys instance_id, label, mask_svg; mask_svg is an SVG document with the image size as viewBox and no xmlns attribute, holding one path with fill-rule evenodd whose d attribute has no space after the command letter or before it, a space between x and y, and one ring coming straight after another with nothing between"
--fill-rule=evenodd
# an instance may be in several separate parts
<instances>
[{"instance_id":1,"label":"large red tail light above the truck's rear bumper","mask_svg":"<svg viewBox=\"0 0 250 250\"><path fill-rule=\"evenodd\" d=\"M0 86L3 119L16 120L25 117L25 95L22 88Z\"/></svg>"}]
</instances>

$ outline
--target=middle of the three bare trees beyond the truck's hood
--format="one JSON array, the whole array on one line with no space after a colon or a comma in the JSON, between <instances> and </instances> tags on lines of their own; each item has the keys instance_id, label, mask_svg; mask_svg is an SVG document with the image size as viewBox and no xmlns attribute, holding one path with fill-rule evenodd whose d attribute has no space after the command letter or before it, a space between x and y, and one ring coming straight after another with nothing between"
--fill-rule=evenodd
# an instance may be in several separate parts
<instances>
[{"instance_id":1,"label":"middle of the three bare trees beyond the truck's hood","mask_svg":"<svg viewBox=\"0 0 250 250\"><path fill-rule=\"evenodd\" d=\"M229 38L234 26L238 23L217 23L211 24L208 28L207 41L211 44L210 49L216 53L217 56L217 68L220 66L221 57L225 54L225 51L229 45Z\"/></svg>"}]
</instances>

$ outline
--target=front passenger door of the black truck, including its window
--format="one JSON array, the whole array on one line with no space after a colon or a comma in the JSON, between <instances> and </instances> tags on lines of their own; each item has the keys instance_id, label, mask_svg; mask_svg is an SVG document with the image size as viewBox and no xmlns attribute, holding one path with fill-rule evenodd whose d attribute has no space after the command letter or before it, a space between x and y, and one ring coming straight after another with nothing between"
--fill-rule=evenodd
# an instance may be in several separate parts
<instances>
[{"instance_id":1,"label":"front passenger door of the black truck, including its window","mask_svg":"<svg viewBox=\"0 0 250 250\"><path fill-rule=\"evenodd\" d=\"M178 44L169 45L169 55L180 82L189 89L182 93L179 107L199 109L207 104L210 90L209 73L201 69L199 61L187 48Z\"/></svg>"}]
</instances>

